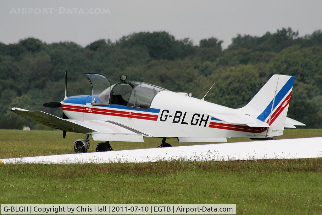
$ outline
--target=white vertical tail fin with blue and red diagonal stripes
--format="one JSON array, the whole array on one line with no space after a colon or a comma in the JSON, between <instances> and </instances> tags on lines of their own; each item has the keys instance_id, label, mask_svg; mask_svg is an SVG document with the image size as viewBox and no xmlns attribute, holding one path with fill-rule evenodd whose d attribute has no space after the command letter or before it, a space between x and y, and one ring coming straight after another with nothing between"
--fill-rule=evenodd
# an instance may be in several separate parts
<instances>
[{"instance_id":1,"label":"white vertical tail fin with blue and red diagonal stripes","mask_svg":"<svg viewBox=\"0 0 322 215\"><path fill-rule=\"evenodd\" d=\"M283 134L294 78L294 76L273 75L242 108L270 125L266 137Z\"/></svg>"}]
</instances>

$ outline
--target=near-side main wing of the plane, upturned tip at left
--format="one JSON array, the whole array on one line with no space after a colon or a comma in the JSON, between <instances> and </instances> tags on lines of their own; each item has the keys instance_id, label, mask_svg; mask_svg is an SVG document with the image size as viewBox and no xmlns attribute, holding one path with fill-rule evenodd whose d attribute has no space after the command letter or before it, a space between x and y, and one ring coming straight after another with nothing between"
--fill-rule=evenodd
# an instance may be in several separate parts
<instances>
[{"instance_id":1,"label":"near-side main wing of the plane, upturned tip at left","mask_svg":"<svg viewBox=\"0 0 322 215\"><path fill-rule=\"evenodd\" d=\"M11 108L11 111L54 129L91 134L94 140L144 142L143 136L149 137L145 133L112 121L67 120L42 111L21 108Z\"/></svg>"}]
</instances>

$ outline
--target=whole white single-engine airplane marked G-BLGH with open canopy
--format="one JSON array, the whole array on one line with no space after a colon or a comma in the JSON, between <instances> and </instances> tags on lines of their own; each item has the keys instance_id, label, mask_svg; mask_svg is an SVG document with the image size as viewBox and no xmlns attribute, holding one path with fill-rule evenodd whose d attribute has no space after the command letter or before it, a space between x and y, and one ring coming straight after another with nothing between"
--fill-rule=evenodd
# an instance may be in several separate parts
<instances>
[{"instance_id":1,"label":"whole white single-engine airplane marked G-BLGH with open canopy","mask_svg":"<svg viewBox=\"0 0 322 215\"><path fill-rule=\"evenodd\" d=\"M12 108L11 111L40 124L66 132L86 134L75 141L77 153L87 152L89 135L105 141L97 152L112 150L109 141L144 142L143 137L160 137L160 147L170 147L166 138L179 142L223 142L226 138L271 139L284 128L304 125L287 118L294 76L273 75L244 107L233 109L175 93L142 82L110 85L100 74L84 74L90 81L91 95L67 96L62 102L44 103L62 107L63 118L42 111ZM209 92L209 91L208 91Z\"/></svg>"}]
</instances>

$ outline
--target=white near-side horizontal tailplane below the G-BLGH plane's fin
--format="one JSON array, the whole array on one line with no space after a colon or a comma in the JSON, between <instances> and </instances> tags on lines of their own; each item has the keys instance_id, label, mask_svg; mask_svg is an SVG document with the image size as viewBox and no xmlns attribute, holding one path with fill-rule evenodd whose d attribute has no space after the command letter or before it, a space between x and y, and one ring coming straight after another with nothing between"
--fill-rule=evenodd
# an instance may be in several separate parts
<instances>
[{"instance_id":1,"label":"white near-side horizontal tailplane below the G-BLGH plane's fin","mask_svg":"<svg viewBox=\"0 0 322 215\"><path fill-rule=\"evenodd\" d=\"M246 114L207 113L207 115L231 124L243 124L249 127L270 127L266 122Z\"/></svg>"}]
</instances>

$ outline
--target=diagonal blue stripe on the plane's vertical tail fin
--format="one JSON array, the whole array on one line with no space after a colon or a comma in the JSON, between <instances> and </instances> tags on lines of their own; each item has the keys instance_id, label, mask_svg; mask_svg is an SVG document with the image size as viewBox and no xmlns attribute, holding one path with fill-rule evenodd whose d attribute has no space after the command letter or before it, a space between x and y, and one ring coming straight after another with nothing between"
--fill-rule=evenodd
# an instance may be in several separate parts
<instances>
[{"instance_id":1,"label":"diagonal blue stripe on the plane's vertical tail fin","mask_svg":"<svg viewBox=\"0 0 322 215\"><path fill-rule=\"evenodd\" d=\"M282 87L282 89L276 94L273 110L276 108L276 106L282 101L282 99L286 96L286 94L289 92L289 90L292 88L294 83L294 76L291 76L289 80L286 82L286 84ZM257 119L264 121L270 114L272 110L272 104L273 100L270 102L270 104L265 108L265 110L257 117Z\"/></svg>"}]
</instances>

